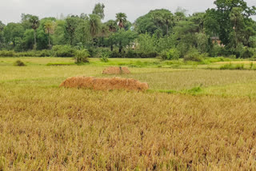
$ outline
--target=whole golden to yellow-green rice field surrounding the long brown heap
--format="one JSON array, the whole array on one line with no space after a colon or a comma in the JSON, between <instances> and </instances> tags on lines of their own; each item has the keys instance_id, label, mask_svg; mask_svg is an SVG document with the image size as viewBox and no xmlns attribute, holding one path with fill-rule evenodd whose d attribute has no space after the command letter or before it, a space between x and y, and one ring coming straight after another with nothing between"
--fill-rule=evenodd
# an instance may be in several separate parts
<instances>
[{"instance_id":1,"label":"whole golden to yellow-green rice field surrounding the long brown heap","mask_svg":"<svg viewBox=\"0 0 256 171\"><path fill-rule=\"evenodd\" d=\"M256 169L254 71L131 68L153 92L202 93L94 91L58 85L101 66L28 60L0 67L0 170Z\"/></svg>"}]
</instances>

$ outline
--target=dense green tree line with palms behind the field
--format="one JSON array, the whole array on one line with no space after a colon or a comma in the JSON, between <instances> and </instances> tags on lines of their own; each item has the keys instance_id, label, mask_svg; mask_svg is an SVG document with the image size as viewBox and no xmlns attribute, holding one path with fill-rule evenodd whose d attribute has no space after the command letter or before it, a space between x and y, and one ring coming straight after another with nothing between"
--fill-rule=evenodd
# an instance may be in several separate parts
<instances>
[{"instance_id":1,"label":"dense green tree line with palms behind the field","mask_svg":"<svg viewBox=\"0 0 256 171\"><path fill-rule=\"evenodd\" d=\"M230 56L252 58L256 53L255 6L243 0L216 0L216 6L202 13L186 10L150 10L136 19L124 13L102 22L105 5L98 3L91 14L66 18L42 18L22 14L21 22L0 21L0 50L89 50L90 56L113 58L196 58Z\"/></svg>"}]
</instances>

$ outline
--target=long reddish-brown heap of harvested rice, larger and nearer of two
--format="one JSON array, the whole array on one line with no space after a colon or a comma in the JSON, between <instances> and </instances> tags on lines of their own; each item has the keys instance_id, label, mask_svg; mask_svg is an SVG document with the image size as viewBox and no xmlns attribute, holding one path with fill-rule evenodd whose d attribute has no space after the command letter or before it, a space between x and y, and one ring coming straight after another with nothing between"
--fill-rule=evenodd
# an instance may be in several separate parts
<instances>
[{"instance_id":1,"label":"long reddish-brown heap of harvested rice, larger and nearer of two","mask_svg":"<svg viewBox=\"0 0 256 171\"><path fill-rule=\"evenodd\" d=\"M74 77L67 78L60 87L84 88L95 90L125 89L145 91L149 89L146 82L138 82L127 78L93 78L93 77Z\"/></svg>"}]
</instances>

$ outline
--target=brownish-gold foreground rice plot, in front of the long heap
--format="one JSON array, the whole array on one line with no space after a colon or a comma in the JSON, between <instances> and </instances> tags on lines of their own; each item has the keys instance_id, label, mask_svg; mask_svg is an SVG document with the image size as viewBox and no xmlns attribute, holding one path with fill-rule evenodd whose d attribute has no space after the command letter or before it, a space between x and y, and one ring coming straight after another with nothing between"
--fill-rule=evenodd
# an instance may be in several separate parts
<instances>
[{"instance_id":1,"label":"brownish-gold foreground rice plot, in front of the long heap","mask_svg":"<svg viewBox=\"0 0 256 171\"><path fill-rule=\"evenodd\" d=\"M4 169L256 169L254 100L9 91L0 96Z\"/></svg>"}]
</instances>

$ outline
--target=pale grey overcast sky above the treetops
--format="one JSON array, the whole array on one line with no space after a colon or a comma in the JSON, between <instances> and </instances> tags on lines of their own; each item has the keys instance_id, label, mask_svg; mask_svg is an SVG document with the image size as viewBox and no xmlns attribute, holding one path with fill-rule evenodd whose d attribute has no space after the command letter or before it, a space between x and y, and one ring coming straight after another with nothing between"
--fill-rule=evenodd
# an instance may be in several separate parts
<instances>
[{"instance_id":1,"label":"pale grey overcast sky above the treetops","mask_svg":"<svg viewBox=\"0 0 256 171\"><path fill-rule=\"evenodd\" d=\"M4 23L20 22L21 14L34 14L39 18L57 17L60 14L90 14L95 3L103 2L105 21L123 12L128 20L134 20L150 10L166 8L174 12L178 7L188 14L214 7L214 0L0 0L0 20ZM256 6L256 0L246 0L248 6Z\"/></svg>"}]
</instances>

